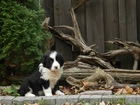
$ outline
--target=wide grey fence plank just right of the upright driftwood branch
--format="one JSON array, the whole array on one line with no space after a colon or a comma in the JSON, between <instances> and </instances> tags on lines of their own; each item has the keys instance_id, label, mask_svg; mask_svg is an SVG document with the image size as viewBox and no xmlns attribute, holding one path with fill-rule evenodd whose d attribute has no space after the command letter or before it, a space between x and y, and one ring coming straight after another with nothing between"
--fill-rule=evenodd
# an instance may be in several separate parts
<instances>
[{"instance_id":1,"label":"wide grey fence plank just right of the upright driftwood branch","mask_svg":"<svg viewBox=\"0 0 140 105\"><path fill-rule=\"evenodd\" d=\"M86 4L87 42L96 44L95 50L104 52L103 0L90 0Z\"/></svg>"}]
</instances>

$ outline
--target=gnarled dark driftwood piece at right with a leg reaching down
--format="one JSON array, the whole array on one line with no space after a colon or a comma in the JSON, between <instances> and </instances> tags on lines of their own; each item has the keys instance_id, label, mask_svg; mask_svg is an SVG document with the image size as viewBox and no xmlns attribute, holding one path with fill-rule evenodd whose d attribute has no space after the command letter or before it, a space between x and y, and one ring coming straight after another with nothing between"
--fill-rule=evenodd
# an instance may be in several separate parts
<instances>
[{"instance_id":1,"label":"gnarled dark driftwood piece at right with a leg reaching down","mask_svg":"<svg viewBox=\"0 0 140 105\"><path fill-rule=\"evenodd\" d=\"M100 54L102 59L109 61L121 55L132 55L134 57L133 70L138 69L138 61L140 60L140 44L130 41L122 41L120 39L116 39L115 41L107 41L107 43L115 44L120 49Z\"/></svg>"}]
</instances>

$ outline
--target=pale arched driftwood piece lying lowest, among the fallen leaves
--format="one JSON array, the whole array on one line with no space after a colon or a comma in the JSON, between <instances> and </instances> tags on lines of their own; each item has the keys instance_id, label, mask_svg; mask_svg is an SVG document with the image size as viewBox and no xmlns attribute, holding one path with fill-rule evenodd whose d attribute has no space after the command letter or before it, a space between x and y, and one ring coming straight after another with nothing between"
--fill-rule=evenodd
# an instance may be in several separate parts
<instances>
[{"instance_id":1,"label":"pale arched driftwood piece lying lowest, among the fallen leaves","mask_svg":"<svg viewBox=\"0 0 140 105\"><path fill-rule=\"evenodd\" d=\"M106 84L98 84L96 81L98 81L98 79L105 79L106 81ZM117 83L111 75L107 74L107 73L103 73L100 75L100 73L95 73L95 75L91 75L89 76L89 85L87 86L83 86L83 82L86 82L87 80L85 80L87 78L84 78L84 79L76 79L74 77L68 77L66 79L66 81L72 85L72 86L76 86L78 87L79 89L82 87L84 89L85 88L89 88L89 89L98 89L100 87L102 88L106 88L106 89L113 89L113 88L125 88L126 86L129 86L130 88L137 88L137 87L140 87L140 84L120 84L120 83ZM92 85L90 85L90 82L93 82Z\"/></svg>"}]
</instances>

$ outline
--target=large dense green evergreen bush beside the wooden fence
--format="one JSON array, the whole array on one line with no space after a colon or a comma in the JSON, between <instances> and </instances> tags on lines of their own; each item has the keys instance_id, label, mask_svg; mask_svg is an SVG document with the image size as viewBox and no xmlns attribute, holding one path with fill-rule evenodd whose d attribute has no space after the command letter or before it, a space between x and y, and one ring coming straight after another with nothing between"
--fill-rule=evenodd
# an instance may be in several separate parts
<instances>
[{"instance_id":1,"label":"large dense green evergreen bush beside the wooden fence","mask_svg":"<svg viewBox=\"0 0 140 105\"><path fill-rule=\"evenodd\" d=\"M44 10L40 0L0 1L0 76L5 76L9 64L16 66L16 73L31 73L47 50L46 39L51 33L41 26Z\"/></svg>"}]
</instances>

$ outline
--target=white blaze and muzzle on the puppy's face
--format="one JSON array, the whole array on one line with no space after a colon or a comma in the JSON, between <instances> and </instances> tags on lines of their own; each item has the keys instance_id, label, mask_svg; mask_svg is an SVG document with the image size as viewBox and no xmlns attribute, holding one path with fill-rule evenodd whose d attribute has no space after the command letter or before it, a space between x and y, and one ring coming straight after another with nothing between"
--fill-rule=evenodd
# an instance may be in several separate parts
<instances>
[{"instance_id":1,"label":"white blaze and muzzle on the puppy's face","mask_svg":"<svg viewBox=\"0 0 140 105\"><path fill-rule=\"evenodd\" d=\"M52 63L51 70L60 69L60 64L56 61L56 55L57 55L57 52L53 52L50 54L50 58L52 58L54 60Z\"/></svg>"}]
</instances>

